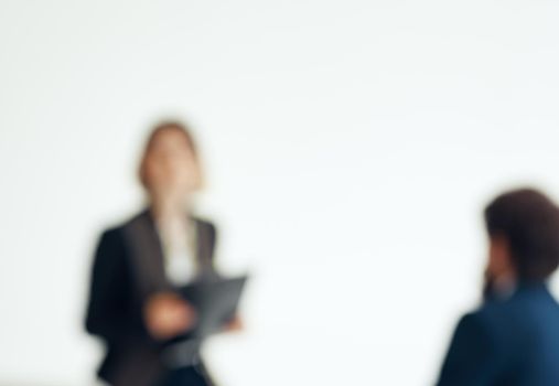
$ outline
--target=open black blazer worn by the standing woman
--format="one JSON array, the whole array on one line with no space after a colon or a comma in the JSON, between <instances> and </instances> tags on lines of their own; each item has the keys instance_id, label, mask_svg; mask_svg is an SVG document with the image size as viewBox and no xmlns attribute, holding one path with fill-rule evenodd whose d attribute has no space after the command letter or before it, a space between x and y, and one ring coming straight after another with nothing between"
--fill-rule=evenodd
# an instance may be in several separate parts
<instances>
[{"instance_id":1,"label":"open black blazer worn by the standing woman","mask_svg":"<svg viewBox=\"0 0 559 386\"><path fill-rule=\"evenodd\" d=\"M216 229L193 218L201 277L213 268ZM162 372L161 342L149 335L142 308L149 296L173 290L166 280L163 251L153 218L144 211L103 233L92 272L86 330L107 346L98 375L114 386L151 386Z\"/></svg>"}]
</instances>

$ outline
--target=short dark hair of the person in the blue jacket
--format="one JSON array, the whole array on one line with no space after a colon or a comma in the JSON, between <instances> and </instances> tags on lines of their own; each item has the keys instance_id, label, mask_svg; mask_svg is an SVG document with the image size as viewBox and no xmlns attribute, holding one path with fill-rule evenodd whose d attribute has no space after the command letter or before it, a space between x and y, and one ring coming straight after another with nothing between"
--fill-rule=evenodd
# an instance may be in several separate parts
<instances>
[{"instance_id":1,"label":"short dark hair of the person in the blue jacket","mask_svg":"<svg viewBox=\"0 0 559 386\"><path fill-rule=\"evenodd\" d=\"M541 192L518 189L485 208L490 236L503 235L520 280L547 279L559 265L559 208Z\"/></svg>"}]
</instances>

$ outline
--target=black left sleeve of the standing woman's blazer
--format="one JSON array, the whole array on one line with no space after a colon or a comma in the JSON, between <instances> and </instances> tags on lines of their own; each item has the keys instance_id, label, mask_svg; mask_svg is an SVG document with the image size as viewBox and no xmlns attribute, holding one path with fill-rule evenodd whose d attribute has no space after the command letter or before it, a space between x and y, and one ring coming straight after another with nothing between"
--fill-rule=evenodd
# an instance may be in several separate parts
<instances>
[{"instance_id":1,"label":"black left sleeve of the standing woman's blazer","mask_svg":"<svg viewBox=\"0 0 559 386\"><path fill-rule=\"evenodd\" d=\"M129 274L123 239L117 229L105 232L97 245L85 328L114 342L130 330Z\"/></svg>"}]
</instances>

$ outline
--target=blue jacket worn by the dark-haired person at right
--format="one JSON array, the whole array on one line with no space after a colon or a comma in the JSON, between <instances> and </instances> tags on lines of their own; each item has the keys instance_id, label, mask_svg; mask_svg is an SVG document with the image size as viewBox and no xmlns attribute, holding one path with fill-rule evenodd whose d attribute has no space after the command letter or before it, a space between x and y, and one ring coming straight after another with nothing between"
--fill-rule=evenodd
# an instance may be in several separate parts
<instances>
[{"instance_id":1,"label":"blue jacket worn by the dark-haired person at right","mask_svg":"<svg viewBox=\"0 0 559 386\"><path fill-rule=\"evenodd\" d=\"M522 285L459 322L438 386L559 386L559 304Z\"/></svg>"}]
</instances>

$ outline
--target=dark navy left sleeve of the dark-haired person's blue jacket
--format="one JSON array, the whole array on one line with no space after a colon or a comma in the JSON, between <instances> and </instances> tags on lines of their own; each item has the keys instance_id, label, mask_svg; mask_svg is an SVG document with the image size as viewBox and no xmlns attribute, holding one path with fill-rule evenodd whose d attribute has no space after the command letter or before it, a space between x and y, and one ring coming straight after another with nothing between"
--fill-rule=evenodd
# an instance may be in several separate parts
<instances>
[{"instance_id":1,"label":"dark navy left sleeve of the dark-haired person's blue jacket","mask_svg":"<svg viewBox=\"0 0 559 386\"><path fill-rule=\"evenodd\" d=\"M467 314L454 331L437 385L493 385L498 363L498 345L488 324L476 313Z\"/></svg>"}]
</instances>

